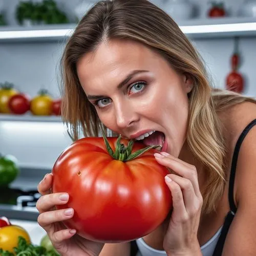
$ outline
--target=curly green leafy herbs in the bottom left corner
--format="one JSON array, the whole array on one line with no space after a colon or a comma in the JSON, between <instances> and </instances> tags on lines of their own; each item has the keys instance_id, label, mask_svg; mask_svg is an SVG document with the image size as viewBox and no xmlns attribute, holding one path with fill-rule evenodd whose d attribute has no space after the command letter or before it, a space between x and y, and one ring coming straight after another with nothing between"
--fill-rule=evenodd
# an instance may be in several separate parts
<instances>
[{"instance_id":1,"label":"curly green leafy herbs in the bottom left corner","mask_svg":"<svg viewBox=\"0 0 256 256\"><path fill-rule=\"evenodd\" d=\"M58 256L59 254L55 250L49 250L42 246L33 245L28 243L26 239L19 236L16 240L17 246L12 250L5 250L0 248L1 256Z\"/></svg>"}]
</instances>

